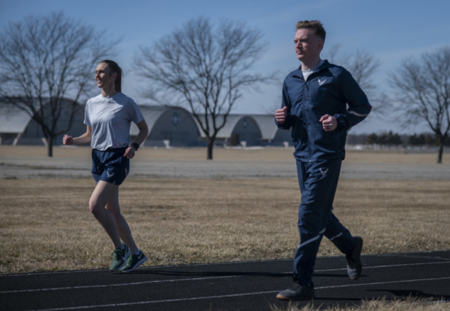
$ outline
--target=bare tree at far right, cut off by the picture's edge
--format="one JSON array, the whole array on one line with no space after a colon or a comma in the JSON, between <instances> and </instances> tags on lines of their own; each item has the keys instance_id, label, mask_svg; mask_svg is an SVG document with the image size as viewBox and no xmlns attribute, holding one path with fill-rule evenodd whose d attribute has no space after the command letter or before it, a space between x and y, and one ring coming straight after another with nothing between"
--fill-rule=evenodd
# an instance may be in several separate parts
<instances>
[{"instance_id":1,"label":"bare tree at far right, cut off by the picture's edge","mask_svg":"<svg viewBox=\"0 0 450 311\"><path fill-rule=\"evenodd\" d=\"M392 87L404 114L403 125L425 121L439 144L437 163L442 163L450 131L450 46L407 58L391 73Z\"/></svg>"}]
</instances>

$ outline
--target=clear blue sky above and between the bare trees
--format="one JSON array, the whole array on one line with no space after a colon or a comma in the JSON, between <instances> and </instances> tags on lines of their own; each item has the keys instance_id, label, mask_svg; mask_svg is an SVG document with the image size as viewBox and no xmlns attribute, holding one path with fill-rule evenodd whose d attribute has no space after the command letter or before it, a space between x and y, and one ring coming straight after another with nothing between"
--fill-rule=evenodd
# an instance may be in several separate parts
<instances>
[{"instance_id":1,"label":"clear blue sky above and between the bare trees","mask_svg":"<svg viewBox=\"0 0 450 311\"><path fill-rule=\"evenodd\" d=\"M191 18L204 16L211 21L229 18L259 28L267 45L254 70L261 73L278 70L281 81L300 65L293 46L295 23L319 19L327 31L324 53L327 47L340 44L340 55L357 50L374 54L381 62L374 80L380 90L389 93L392 89L387 83L387 73L395 71L405 57L419 57L450 45L449 11L448 0L3 0L0 29L30 14L63 12L98 30L123 37L116 57L125 74L123 92L144 104L147 101L140 92L145 83L132 71L133 56L140 46L150 46ZM246 92L233 113L265 113L268 107L278 105L280 94L279 85ZM412 133L427 128L416 125L405 129L389 116L369 115L352 129L355 134L389 130Z\"/></svg>"}]
</instances>

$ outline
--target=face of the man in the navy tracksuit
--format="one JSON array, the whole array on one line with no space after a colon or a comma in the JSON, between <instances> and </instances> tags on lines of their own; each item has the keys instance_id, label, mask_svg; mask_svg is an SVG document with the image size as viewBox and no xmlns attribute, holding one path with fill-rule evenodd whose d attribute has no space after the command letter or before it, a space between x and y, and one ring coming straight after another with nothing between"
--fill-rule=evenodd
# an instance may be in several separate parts
<instances>
[{"instance_id":1,"label":"face of the man in the navy tracksuit","mask_svg":"<svg viewBox=\"0 0 450 311\"><path fill-rule=\"evenodd\" d=\"M297 29L294 37L295 53L300 61L308 62L320 57L324 41L310 28Z\"/></svg>"}]
</instances>

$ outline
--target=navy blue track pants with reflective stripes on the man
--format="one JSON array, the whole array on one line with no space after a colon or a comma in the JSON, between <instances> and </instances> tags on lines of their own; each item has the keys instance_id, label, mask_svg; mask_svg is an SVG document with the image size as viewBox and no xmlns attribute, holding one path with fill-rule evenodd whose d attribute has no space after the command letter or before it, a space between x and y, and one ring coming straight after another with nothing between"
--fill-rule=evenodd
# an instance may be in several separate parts
<instances>
[{"instance_id":1,"label":"navy blue track pants with reflective stripes on the man","mask_svg":"<svg viewBox=\"0 0 450 311\"><path fill-rule=\"evenodd\" d=\"M300 244L294 256L293 280L310 285L320 241L325 236L343 253L350 253L355 239L333 215L334 193L338 187L341 159L319 162L297 160L302 202L298 206Z\"/></svg>"}]
</instances>

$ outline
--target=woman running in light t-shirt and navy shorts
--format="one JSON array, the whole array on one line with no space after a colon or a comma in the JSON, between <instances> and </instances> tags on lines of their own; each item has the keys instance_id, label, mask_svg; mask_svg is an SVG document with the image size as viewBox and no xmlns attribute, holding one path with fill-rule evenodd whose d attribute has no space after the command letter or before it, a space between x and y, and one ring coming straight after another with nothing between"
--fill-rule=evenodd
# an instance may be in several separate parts
<instances>
[{"instance_id":1,"label":"woman running in light t-shirt and navy shorts","mask_svg":"<svg viewBox=\"0 0 450 311\"><path fill-rule=\"evenodd\" d=\"M130 159L147 137L148 127L135 101L121 93L122 70L116 62L101 61L95 70L95 80L102 93L86 103L87 130L75 138L64 135L63 144L90 143L92 175L97 185L89 200L89 210L114 244L109 270L131 272L147 257L136 247L130 227L120 213L119 185L128 175ZM130 145L131 121L138 126L139 134Z\"/></svg>"}]
</instances>

